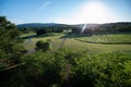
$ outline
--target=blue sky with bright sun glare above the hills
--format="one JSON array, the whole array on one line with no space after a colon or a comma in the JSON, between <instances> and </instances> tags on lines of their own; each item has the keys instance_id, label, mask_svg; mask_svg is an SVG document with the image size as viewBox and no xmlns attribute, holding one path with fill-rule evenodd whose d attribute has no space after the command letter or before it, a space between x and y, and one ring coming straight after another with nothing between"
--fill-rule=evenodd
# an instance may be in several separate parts
<instances>
[{"instance_id":1,"label":"blue sky with bright sun glare above the hills","mask_svg":"<svg viewBox=\"0 0 131 87\"><path fill-rule=\"evenodd\" d=\"M131 0L0 0L0 15L15 24L131 22Z\"/></svg>"}]
</instances>

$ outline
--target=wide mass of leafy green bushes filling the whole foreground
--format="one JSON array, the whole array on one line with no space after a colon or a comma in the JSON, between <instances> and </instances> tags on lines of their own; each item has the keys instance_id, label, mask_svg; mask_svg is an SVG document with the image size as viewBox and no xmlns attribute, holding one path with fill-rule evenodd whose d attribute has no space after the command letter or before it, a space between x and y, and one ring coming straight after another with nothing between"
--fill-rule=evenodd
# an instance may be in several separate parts
<instances>
[{"instance_id":1,"label":"wide mass of leafy green bushes filling the whole foreground","mask_svg":"<svg viewBox=\"0 0 131 87\"><path fill-rule=\"evenodd\" d=\"M10 87L130 87L131 59L120 52L36 52L9 78ZM23 80L24 79L24 80ZM34 83L35 82L35 83Z\"/></svg>"}]
</instances>

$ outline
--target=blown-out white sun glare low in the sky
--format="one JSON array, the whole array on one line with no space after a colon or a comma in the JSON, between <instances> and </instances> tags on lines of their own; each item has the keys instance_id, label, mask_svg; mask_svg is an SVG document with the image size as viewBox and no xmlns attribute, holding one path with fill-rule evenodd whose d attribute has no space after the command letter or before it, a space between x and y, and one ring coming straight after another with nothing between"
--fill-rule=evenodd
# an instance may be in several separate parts
<instances>
[{"instance_id":1,"label":"blown-out white sun glare low in the sky","mask_svg":"<svg viewBox=\"0 0 131 87\"><path fill-rule=\"evenodd\" d=\"M110 17L108 11L103 3L92 2L83 7L80 16L84 18L85 23L105 23Z\"/></svg>"}]
</instances>

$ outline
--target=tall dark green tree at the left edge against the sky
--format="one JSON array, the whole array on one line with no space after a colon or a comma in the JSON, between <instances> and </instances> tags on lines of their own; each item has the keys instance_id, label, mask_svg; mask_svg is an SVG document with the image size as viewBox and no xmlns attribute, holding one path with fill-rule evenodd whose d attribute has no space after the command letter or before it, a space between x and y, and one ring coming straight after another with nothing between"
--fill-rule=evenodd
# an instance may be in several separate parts
<instances>
[{"instance_id":1,"label":"tall dark green tree at the left edge against the sky","mask_svg":"<svg viewBox=\"0 0 131 87\"><path fill-rule=\"evenodd\" d=\"M25 52L20 45L20 35L16 26L0 16L0 70L21 62L21 55Z\"/></svg>"}]
</instances>

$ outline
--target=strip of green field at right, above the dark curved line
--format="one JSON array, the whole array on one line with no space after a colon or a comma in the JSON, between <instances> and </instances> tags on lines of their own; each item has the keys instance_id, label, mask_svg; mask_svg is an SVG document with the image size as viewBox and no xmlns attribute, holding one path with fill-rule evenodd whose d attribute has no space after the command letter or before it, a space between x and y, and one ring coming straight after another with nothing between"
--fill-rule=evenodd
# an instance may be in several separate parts
<instances>
[{"instance_id":1,"label":"strip of green field at right, above the dark curved line","mask_svg":"<svg viewBox=\"0 0 131 87\"><path fill-rule=\"evenodd\" d=\"M93 35L91 37L80 37L76 39L85 42L131 44L131 34Z\"/></svg>"}]
</instances>

